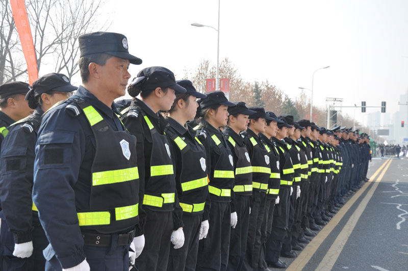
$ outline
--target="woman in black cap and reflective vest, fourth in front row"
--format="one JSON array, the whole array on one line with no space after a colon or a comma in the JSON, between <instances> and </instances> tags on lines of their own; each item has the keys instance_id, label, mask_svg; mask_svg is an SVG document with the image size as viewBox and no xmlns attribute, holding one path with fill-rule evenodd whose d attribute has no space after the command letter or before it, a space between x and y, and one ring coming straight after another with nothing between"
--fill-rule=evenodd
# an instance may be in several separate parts
<instances>
[{"instance_id":1,"label":"woman in black cap and reflective vest, fourth in front row","mask_svg":"<svg viewBox=\"0 0 408 271\"><path fill-rule=\"evenodd\" d=\"M213 91L200 100L198 139L206 148L211 209L208 236L200 240L196 270L226 270L230 249L231 227L237 224L237 213L230 207L234 187L234 159L220 127L228 120L228 102L224 93Z\"/></svg>"}]
</instances>

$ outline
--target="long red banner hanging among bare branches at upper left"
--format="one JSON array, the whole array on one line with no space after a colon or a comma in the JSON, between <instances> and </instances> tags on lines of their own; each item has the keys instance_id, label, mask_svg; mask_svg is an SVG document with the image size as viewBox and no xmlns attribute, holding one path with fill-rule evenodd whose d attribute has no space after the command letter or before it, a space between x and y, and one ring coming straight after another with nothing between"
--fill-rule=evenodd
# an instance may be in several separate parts
<instances>
[{"instance_id":1,"label":"long red banner hanging among bare branches at upper left","mask_svg":"<svg viewBox=\"0 0 408 271\"><path fill-rule=\"evenodd\" d=\"M10 5L13 11L17 33L20 37L22 52L25 62L27 62L29 82L30 85L32 85L33 82L38 79L38 69L27 10L25 9L24 0L10 0Z\"/></svg>"}]
</instances>

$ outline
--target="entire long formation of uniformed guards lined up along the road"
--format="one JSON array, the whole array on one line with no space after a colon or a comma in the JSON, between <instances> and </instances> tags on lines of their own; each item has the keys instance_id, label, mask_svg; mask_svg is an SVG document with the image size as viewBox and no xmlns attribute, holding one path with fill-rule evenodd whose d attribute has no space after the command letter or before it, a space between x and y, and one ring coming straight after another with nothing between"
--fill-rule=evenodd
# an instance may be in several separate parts
<instances>
[{"instance_id":1,"label":"entire long formation of uniformed guards lined up along the road","mask_svg":"<svg viewBox=\"0 0 408 271\"><path fill-rule=\"evenodd\" d=\"M82 86L0 86L0 270L285 268L367 181L366 134L205 95L164 67L128 85L142 60L125 36L79 44Z\"/></svg>"}]
</instances>

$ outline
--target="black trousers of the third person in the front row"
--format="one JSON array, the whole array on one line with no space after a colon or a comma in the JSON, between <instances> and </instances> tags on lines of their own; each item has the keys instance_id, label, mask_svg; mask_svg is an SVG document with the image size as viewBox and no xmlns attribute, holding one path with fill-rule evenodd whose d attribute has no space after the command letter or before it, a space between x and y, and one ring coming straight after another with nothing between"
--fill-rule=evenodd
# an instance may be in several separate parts
<instances>
[{"instance_id":1,"label":"black trousers of the third person in the front row","mask_svg":"<svg viewBox=\"0 0 408 271\"><path fill-rule=\"evenodd\" d=\"M167 271L194 271L197 264L198 238L200 236L202 215L183 213L184 245L174 249L170 245L170 256Z\"/></svg>"}]
</instances>

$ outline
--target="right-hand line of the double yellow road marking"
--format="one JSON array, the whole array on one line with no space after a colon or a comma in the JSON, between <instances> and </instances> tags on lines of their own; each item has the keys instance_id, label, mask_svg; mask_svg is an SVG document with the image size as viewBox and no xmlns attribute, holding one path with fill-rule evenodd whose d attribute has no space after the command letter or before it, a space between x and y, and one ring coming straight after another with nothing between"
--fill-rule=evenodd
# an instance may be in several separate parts
<instances>
[{"instance_id":1,"label":"right-hand line of the double yellow road marking","mask_svg":"<svg viewBox=\"0 0 408 271\"><path fill-rule=\"evenodd\" d=\"M390 160L390 162L387 164L384 170L382 170L379 177L375 181L373 181L374 184L372 185L370 190L368 190L367 194L364 196L364 199L361 201L357 209L355 209L354 213L350 216L346 225L341 230L340 234L337 236L336 240L333 242L333 244L331 244L330 249L327 251L326 255L324 255L324 258L321 260L316 270L331 270L333 268L337 259L340 256L340 253L342 252L344 248L344 245L346 244L348 240L348 237L354 230L354 227L359 221L360 216L364 212L364 209L366 209L368 202L373 196L375 189L377 189L379 182L382 180L386 171L390 167L391 161L392 160Z\"/></svg>"}]
</instances>

